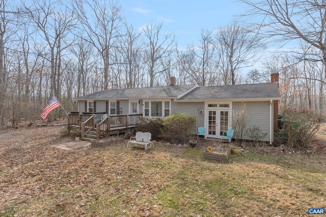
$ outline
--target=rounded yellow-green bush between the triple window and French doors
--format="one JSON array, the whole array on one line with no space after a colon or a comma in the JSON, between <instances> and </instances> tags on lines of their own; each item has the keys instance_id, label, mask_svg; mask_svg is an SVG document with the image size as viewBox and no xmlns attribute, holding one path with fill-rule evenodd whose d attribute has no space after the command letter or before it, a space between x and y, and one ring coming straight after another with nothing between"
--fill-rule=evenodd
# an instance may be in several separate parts
<instances>
[{"instance_id":1,"label":"rounded yellow-green bush between the triple window and French doors","mask_svg":"<svg viewBox=\"0 0 326 217\"><path fill-rule=\"evenodd\" d=\"M162 138L171 143L184 143L189 140L196 123L196 117L188 113L173 113L163 118Z\"/></svg>"}]
</instances>

